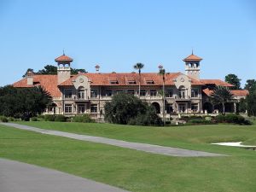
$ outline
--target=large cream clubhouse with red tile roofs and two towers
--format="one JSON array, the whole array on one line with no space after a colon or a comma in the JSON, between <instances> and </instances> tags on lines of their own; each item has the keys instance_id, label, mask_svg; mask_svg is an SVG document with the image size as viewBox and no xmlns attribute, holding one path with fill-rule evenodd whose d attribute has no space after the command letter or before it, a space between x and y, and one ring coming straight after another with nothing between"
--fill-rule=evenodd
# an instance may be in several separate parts
<instances>
[{"instance_id":1,"label":"large cream clubhouse with red tile roofs and two towers","mask_svg":"<svg viewBox=\"0 0 256 192\"><path fill-rule=\"evenodd\" d=\"M214 87L221 85L232 87L220 79L200 79L201 58L189 55L184 61L185 73L96 73L71 74L72 58L63 54L55 59L57 74L42 75L31 72L13 84L15 87L42 86L53 97L48 114L67 116L88 113L94 119L102 119L104 105L111 101L114 94L124 92L139 96L154 106L160 116L166 111L166 118L178 113L218 113L221 108L212 106L209 96ZM160 66L161 68L161 66ZM165 80L164 80L165 79ZM163 102L162 87L165 82L166 99ZM139 84L141 90L139 92ZM230 90L236 100L247 96L247 90ZM164 104L165 103L165 108ZM229 112L235 112L236 103L226 106Z\"/></svg>"}]
</instances>

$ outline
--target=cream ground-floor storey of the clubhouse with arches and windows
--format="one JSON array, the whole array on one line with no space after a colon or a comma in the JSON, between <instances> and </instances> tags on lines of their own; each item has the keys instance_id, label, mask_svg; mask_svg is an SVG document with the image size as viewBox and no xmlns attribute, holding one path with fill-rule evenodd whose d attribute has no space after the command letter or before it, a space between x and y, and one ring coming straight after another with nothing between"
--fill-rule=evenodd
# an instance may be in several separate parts
<instances>
[{"instance_id":1,"label":"cream ground-floor storey of the clubhouse with arches and windows","mask_svg":"<svg viewBox=\"0 0 256 192\"><path fill-rule=\"evenodd\" d=\"M45 109L44 114L63 114L66 116L73 116L78 114L90 114L93 119L103 119L104 106L106 102L111 100L88 100L88 101L54 101L48 108ZM203 102L199 99L178 99L166 100L165 108L162 99L144 100L148 104L154 106L156 113L160 117L165 116L170 118L177 114L208 114L208 113L223 113L222 105L212 105L211 102ZM226 113L236 113L238 106L236 102L225 104Z\"/></svg>"}]
</instances>

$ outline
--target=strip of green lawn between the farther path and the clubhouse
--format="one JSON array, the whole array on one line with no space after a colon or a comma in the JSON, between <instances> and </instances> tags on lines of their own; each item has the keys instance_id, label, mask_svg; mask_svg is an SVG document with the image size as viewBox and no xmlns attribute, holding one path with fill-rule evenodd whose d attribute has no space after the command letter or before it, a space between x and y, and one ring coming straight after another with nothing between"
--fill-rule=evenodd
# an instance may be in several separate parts
<instances>
[{"instance_id":1,"label":"strip of green lawn between the farther path and the clubhouse","mask_svg":"<svg viewBox=\"0 0 256 192\"><path fill-rule=\"evenodd\" d=\"M191 125L146 127L62 122L20 122L39 128L109 137L137 143L218 152L210 143L247 142L256 145L256 125Z\"/></svg>"}]
</instances>

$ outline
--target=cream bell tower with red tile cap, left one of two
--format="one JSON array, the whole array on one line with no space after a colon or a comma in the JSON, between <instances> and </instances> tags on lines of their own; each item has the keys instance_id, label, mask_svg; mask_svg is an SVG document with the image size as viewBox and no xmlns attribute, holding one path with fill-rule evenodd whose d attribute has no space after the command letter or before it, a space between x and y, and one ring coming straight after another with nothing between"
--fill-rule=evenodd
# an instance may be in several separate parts
<instances>
[{"instance_id":1,"label":"cream bell tower with red tile cap, left one of two","mask_svg":"<svg viewBox=\"0 0 256 192\"><path fill-rule=\"evenodd\" d=\"M70 63L73 61L73 59L65 55L63 51L63 55L57 57L55 61L58 63L58 69L57 69L58 84L61 84L67 79L70 79L70 75L71 75Z\"/></svg>"}]
</instances>

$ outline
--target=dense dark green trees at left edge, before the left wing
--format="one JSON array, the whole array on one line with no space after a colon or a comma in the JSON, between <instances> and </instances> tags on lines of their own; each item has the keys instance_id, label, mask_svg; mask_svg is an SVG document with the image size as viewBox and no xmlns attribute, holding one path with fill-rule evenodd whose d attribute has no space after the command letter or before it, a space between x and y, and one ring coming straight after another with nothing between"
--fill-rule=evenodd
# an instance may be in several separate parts
<instances>
[{"instance_id":1,"label":"dense dark green trees at left edge, before the left wing","mask_svg":"<svg viewBox=\"0 0 256 192\"><path fill-rule=\"evenodd\" d=\"M29 120L38 113L43 113L52 101L49 92L42 87L15 88L5 86L0 88L0 114Z\"/></svg>"}]
</instances>

